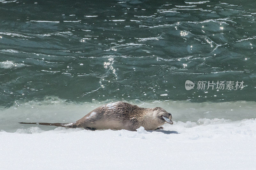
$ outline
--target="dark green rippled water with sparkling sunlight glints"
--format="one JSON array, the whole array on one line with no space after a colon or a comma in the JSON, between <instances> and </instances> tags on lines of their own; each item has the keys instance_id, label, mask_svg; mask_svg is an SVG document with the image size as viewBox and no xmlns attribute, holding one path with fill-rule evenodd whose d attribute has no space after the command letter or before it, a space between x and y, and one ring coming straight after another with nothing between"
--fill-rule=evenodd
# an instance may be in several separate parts
<instances>
[{"instance_id":1,"label":"dark green rippled water with sparkling sunlight glints","mask_svg":"<svg viewBox=\"0 0 256 170\"><path fill-rule=\"evenodd\" d=\"M0 106L49 96L78 103L255 102L255 6L0 0ZM186 80L244 81L244 89L187 91Z\"/></svg>"}]
</instances>

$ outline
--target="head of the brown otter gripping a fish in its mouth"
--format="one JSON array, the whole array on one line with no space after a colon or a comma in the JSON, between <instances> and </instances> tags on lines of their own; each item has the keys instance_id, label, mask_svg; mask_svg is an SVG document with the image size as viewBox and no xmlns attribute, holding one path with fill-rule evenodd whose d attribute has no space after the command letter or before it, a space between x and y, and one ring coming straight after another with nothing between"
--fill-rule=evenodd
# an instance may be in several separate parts
<instances>
[{"instance_id":1,"label":"head of the brown otter gripping a fish in its mouth","mask_svg":"<svg viewBox=\"0 0 256 170\"><path fill-rule=\"evenodd\" d=\"M169 123L171 125L173 124L173 122L171 120L172 119L172 114L171 113L166 112L161 107L155 107L152 110L153 110L154 115L156 116L156 119L158 119L159 122L161 122L163 124L165 122L167 122L167 123Z\"/></svg>"}]
</instances>

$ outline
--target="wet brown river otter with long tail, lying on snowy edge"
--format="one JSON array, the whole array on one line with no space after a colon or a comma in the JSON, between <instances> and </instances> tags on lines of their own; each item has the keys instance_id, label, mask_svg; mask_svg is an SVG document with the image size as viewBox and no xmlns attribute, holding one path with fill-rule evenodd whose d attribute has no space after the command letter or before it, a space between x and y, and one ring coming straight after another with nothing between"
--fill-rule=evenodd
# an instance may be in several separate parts
<instances>
[{"instance_id":1,"label":"wet brown river otter with long tail, lying on snowy edge","mask_svg":"<svg viewBox=\"0 0 256 170\"><path fill-rule=\"evenodd\" d=\"M125 102L102 105L73 123L26 123L84 129L131 130L143 126L145 130L162 129L164 123L173 124L171 113L161 107L142 108Z\"/></svg>"}]
</instances>

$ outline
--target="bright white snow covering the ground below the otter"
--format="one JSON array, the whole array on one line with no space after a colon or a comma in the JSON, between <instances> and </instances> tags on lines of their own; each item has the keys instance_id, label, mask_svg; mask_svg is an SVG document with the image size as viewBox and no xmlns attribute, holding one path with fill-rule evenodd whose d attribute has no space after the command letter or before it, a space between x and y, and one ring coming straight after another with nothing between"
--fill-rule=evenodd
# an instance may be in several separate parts
<instances>
[{"instance_id":1,"label":"bright white snow covering the ground below the otter","mask_svg":"<svg viewBox=\"0 0 256 170\"><path fill-rule=\"evenodd\" d=\"M173 123L137 132L40 125L2 131L0 169L255 169L255 119Z\"/></svg>"}]
</instances>

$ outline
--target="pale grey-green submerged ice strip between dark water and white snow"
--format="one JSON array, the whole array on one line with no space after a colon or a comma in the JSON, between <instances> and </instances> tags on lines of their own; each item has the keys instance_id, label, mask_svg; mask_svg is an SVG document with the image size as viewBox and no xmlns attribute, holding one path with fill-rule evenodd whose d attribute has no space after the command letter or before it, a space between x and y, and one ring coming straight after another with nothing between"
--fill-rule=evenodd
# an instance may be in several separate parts
<instances>
[{"instance_id":1,"label":"pale grey-green submerged ice strip between dark water and white snow","mask_svg":"<svg viewBox=\"0 0 256 170\"><path fill-rule=\"evenodd\" d=\"M111 101L112 102L112 101ZM43 101L28 101L23 99L15 101L12 107L0 107L0 130L6 132L16 132L20 128L29 128L30 125L19 124L17 122L51 122L70 123L81 119L93 109L109 104L110 101L94 101L93 103L66 102L58 97L46 97ZM192 103L188 101L146 101L131 100L128 103L136 104L140 107L154 108L162 107L172 114L172 121L190 121L187 128L194 126L196 121L203 123L214 118L223 118L230 121L255 118L256 102L238 101L221 103ZM52 130L54 127L40 126L42 130Z\"/></svg>"}]
</instances>

